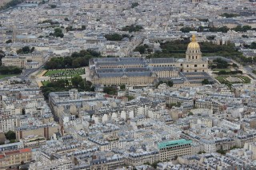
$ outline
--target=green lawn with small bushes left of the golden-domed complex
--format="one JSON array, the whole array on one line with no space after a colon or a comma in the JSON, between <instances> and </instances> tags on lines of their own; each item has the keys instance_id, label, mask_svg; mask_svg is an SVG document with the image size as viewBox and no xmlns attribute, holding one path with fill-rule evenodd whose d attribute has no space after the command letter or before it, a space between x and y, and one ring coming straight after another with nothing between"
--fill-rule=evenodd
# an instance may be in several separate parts
<instances>
[{"instance_id":1,"label":"green lawn with small bushes left of the golden-domed complex","mask_svg":"<svg viewBox=\"0 0 256 170\"><path fill-rule=\"evenodd\" d=\"M85 74L85 69L53 69L48 70L44 76L49 77L75 77Z\"/></svg>"}]
</instances>

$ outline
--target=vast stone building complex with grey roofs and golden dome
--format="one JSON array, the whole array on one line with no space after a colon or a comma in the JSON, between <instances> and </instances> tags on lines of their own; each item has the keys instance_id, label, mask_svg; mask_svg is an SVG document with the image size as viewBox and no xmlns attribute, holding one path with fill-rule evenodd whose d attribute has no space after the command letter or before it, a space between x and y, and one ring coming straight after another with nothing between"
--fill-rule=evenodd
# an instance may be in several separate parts
<instances>
[{"instance_id":1,"label":"vast stone building complex with grey roofs and golden dome","mask_svg":"<svg viewBox=\"0 0 256 170\"><path fill-rule=\"evenodd\" d=\"M94 58L90 77L94 85L154 85L159 80L173 81L174 86L198 86L211 80L208 61L202 60L200 45L193 35L185 59L145 57Z\"/></svg>"}]
</instances>

